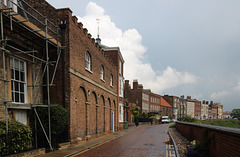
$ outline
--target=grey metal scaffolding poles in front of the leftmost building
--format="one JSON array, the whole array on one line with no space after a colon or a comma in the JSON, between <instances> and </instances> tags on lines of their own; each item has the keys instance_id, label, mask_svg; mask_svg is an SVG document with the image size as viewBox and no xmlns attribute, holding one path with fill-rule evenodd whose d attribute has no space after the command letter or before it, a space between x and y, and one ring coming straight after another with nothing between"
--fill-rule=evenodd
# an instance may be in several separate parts
<instances>
[{"instance_id":1,"label":"grey metal scaffolding poles in front of the leftmost building","mask_svg":"<svg viewBox=\"0 0 240 157\"><path fill-rule=\"evenodd\" d=\"M58 63L59 63L59 59L60 59L60 55L61 55L61 48L59 46L59 28L57 26L55 26L51 21L49 21L47 19L47 17L44 17L40 12L38 12L37 10L35 10L32 6L30 6L29 4L27 4L24 0L21 1L21 3L25 3L25 5L27 7L30 8L30 10L32 9L35 13L37 13L38 15L40 15L39 17L40 18L44 18L44 21L41 21L39 20L38 18L36 18L35 16L33 16L30 12L24 10L24 8L22 7L23 5L22 4L16 4L14 3L12 0L9 1L10 4L7 4L7 5L10 5L10 7L8 6L7 8L2 8L2 3L4 3L3 0L0 0L0 21L1 21L1 51L2 51L2 57L3 57L3 79L0 78L0 80L3 80L4 81L4 100L3 100L3 104L5 106L5 113L6 113L6 132L8 132L8 105L17 105L17 106L26 106L26 105L29 105L31 107L34 108L34 112L35 112L35 130L36 129L36 123L37 123L37 120L38 122L40 123L40 126L43 130L43 133L48 141L48 144L49 144L49 147L51 149L51 151L53 150L52 148L52 145L51 145L51 115L50 115L50 112L51 112L51 102L50 102L50 86L53 84L53 81L54 81L54 78L55 78L55 75L56 75L56 70L57 70L57 66L58 66ZM37 33L38 31L40 30L32 30L31 28L29 27L26 27L26 25L24 25L24 22L26 21L18 21L16 18L14 18L15 15L19 15L19 13L16 13L16 14L11 14L13 11L14 11L14 8L13 7L17 7L17 9L21 10L24 14L24 18L26 18L26 21L29 21L29 18L33 18L34 20L36 20L37 22L39 22L39 24L41 24L42 26L44 26L45 28L45 37L44 36L41 36L39 35L39 33ZM34 13L33 12L33 13ZM4 17L3 17L4 16ZM29 17L29 18L28 18ZM46 59L44 59L44 57L40 58L38 56L35 55L35 50L32 50L32 51L26 51L26 50L21 50L19 48L16 48L14 47L13 45L11 44L7 44L7 40L4 38L4 24L3 24L3 21L4 19L3 18L9 18L10 19L10 31L13 30L13 23L17 23L19 26L21 26L22 28L28 30L29 32L32 32L33 34L35 34L37 37L39 37L40 39L42 40L45 40L45 54L46 54ZM53 26L55 30L53 30L50 26ZM41 27L40 27L41 28ZM42 29L44 30L44 29ZM53 42L52 40L50 40L50 35L48 34L49 32L52 33L54 36L56 35L56 42ZM52 37L51 37L52 38ZM49 61L49 45L53 45L54 47L56 47L57 49L57 54L58 54L58 57L57 57L57 60L56 60L56 64L55 64L55 68L54 68L54 72L53 72L53 75L52 75L52 79L51 79L51 82L50 82L50 65L52 65L52 63ZM7 50L6 48L10 48L11 50L16 50L17 52L10 52L9 50ZM7 76L6 76L6 54L10 55L10 56L14 56L14 57L17 57L19 59L22 59L22 60L25 60L29 63L32 63L32 79L33 79L33 104L18 104L18 103L10 103L11 101L8 101L8 95L7 95L7 82L9 82L7 80ZM25 54L29 57L32 58L32 60L30 59L26 59L22 56L19 56L18 54ZM37 61L37 62L36 62ZM38 71L38 74L36 76L36 64L38 63L41 63L40 66L44 65L44 68L43 70L41 71L41 68L39 68L39 71ZM51 64L50 64L51 63ZM41 78L39 79L39 76L41 76ZM40 86L43 86L43 79L44 79L44 76L46 78L46 90L47 90L47 105L37 105L37 98L38 98L38 94L40 93ZM38 80L39 79L39 80ZM36 85L37 83L39 82L39 87L37 88ZM45 131L45 128L43 127L43 124L41 122L41 119L37 113L37 110L36 110L36 107L48 107L48 121L49 121L49 135L47 136L47 133ZM36 148L38 147L37 146L37 133L35 132L35 140L36 140Z\"/></svg>"}]
</instances>

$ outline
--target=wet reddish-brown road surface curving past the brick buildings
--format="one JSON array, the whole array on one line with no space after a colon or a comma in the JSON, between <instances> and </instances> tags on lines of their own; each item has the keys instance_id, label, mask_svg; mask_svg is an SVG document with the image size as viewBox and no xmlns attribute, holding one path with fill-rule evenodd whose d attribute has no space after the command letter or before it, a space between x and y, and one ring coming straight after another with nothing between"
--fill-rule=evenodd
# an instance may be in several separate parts
<instances>
[{"instance_id":1,"label":"wet reddish-brown road surface curving past the brick buildings","mask_svg":"<svg viewBox=\"0 0 240 157\"><path fill-rule=\"evenodd\" d=\"M168 124L143 125L74 157L166 157ZM167 142L168 143L168 142Z\"/></svg>"}]
</instances>

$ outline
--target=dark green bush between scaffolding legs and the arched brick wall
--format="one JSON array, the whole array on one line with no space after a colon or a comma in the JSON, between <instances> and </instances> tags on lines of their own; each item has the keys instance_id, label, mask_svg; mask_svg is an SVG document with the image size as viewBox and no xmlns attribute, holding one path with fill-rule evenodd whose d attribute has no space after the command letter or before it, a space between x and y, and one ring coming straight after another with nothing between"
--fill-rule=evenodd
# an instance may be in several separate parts
<instances>
[{"instance_id":1,"label":"dark green bush between scaffolding legs and the arched brick wall","mask_svg":"<svg viewBox=\"0 0 240 157\"><path fill-rule=\"evenodd\" d=\"M47 107L39 107L36 108L37 113L41 119L43 127L47 133L49 134L49 119L48 119L48 108ZM50 123L51 123L51 134L52 134L52 146L58 148L58 143L65 142L67 139L67 129L69 126L69 111L62 107L61 105L52 106L50 108ZM39 121L37 120L37 129L35 130L35 113L34 110L31 111L30 114L30 126L33 130L33 133L37 133L37 144L39 147L49 148L49 144L46 141L46 137L43 134L42 127L40 126ZM35 137L35 135L34 135ZM35 139L33 139L33 143L35 143Z\"/></svg>"}]
</instances>

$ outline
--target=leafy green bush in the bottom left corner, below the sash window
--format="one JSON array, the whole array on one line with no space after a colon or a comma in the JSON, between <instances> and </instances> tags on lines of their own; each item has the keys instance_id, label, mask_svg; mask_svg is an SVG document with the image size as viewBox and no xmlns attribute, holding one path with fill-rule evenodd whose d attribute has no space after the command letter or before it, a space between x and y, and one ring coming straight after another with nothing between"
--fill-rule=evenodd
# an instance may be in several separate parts
<instances>
[{"instance_id":1,"label":"leafy green bush in the bottom left corner, below the sash window","mask_svg":"<svg viewBox=\"0 0 240 157\"><path fill-rule=\"evenodd\" d=\"M30 149L32 131L17 121L8 122L6 134L6 122L0 121L0 156L20 153Z\"/></svg>"}]
</instances>

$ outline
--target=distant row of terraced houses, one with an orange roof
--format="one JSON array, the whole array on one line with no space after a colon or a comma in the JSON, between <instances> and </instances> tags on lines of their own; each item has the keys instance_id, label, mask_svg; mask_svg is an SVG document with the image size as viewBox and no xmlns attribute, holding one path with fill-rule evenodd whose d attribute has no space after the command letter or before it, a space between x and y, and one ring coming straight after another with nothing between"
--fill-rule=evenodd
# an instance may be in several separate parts
<instances>
[{"instance_id":1,"label":"distant row of terraced houses, one with an orange roof","mask_svg":"<svg viewBox=\"0 0 240 157\"><path fill-rule=\"evenodd\" d=\"M184 116L199 120L223 119L223 105L220 103L209 103L208 101L199 101L192 99L191 96L184 98L184 95L161 96L151 92L150 89L144 89L142 84L133 80L133 88L129 80L125 80L124 99L129 103L135 103L141 108L141 113L155 113L157 117L169 116L178 119Z\"/></svg>"}]
</instances>

